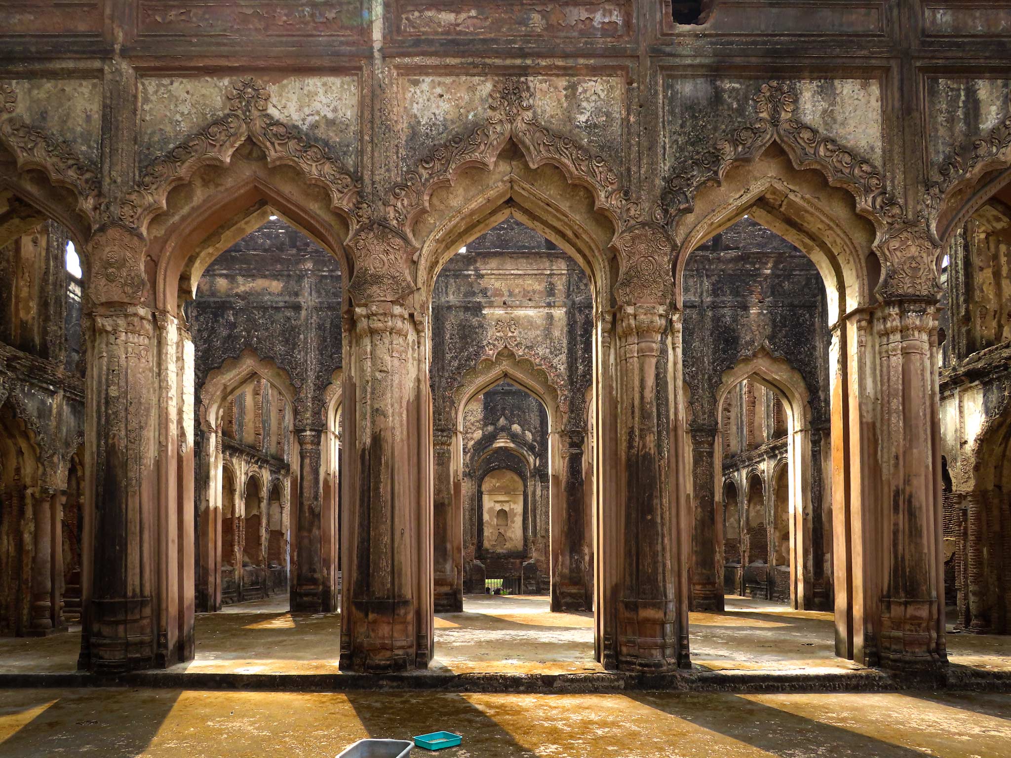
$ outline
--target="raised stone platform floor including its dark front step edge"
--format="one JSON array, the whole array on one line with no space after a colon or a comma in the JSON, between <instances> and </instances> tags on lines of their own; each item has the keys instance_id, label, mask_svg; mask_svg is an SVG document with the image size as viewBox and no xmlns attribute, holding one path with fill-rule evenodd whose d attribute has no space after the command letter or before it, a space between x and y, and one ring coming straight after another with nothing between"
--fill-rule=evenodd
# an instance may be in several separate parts
<instances>
[{"instance_id":1,"label":"raised stone platform floor including its dark front step edge","mask_svg":"<svg viewBox=\"0 0 1011 758\"><path fill-rule=\"evenodd\" d=\"M0 640L0 688L147 686L286 691L442 690L606 693L1011 689L1011 638L948 636L949 665L895 675L836 658L830 613L728 598L692 614L691 670L605 671L593 661L592 614L552 613L542 596L468 596L436 619L426 671L365 675L338 668L340 615L300 614L286 598L229 605L197 619L196 658L165 670L98 677L76 671L79 632Z\"/></svg>"}]
</instances>

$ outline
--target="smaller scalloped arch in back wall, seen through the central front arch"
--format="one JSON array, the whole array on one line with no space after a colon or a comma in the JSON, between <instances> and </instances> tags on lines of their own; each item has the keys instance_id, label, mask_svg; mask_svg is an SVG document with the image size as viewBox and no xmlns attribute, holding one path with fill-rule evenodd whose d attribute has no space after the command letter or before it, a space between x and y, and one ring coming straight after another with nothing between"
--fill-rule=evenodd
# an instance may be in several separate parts
<instances>
[{"instance_id":1,"label":"smaller scalloped arch in back wall, seen through the central front arch","mask_svg":"<svg viewBox=\"0 0 1011 758\"><path fill-rule=\"evenodd\" d=\"M493 355L481 358L477 365L464 372L452 390L452 407L456 429L462 428L463 409L477 395L507 379L544 403L551 432L564 429L568 415L568 398L560 392L548 370L526 356L518 356L512 348L501 347Z\"/></svg>"}]
</instances>

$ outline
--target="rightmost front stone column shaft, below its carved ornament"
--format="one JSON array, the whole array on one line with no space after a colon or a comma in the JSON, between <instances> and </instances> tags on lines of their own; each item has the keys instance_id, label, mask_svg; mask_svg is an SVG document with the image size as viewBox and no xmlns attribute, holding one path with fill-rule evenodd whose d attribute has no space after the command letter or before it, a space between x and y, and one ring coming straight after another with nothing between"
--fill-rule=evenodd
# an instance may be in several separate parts
<instances>
[{"instance_id":1,"label":"rightmost front stone column shaft, below its carved ornament","mask_svg":"<svg viewBox=\"0 0 1011 758\"><path fill-rule=\"evenodd\" d=\"M916 299L886 301L876 314L888 556L881 662L892 668L945 659L935 320L934 306Z\"/></svg>"}]
</instances>

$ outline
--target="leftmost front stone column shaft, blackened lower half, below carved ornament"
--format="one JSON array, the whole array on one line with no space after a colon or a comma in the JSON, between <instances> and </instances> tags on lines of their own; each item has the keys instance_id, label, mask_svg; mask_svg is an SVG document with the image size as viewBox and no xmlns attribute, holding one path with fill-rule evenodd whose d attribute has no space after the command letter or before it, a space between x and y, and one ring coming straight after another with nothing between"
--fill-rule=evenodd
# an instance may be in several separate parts
<instances>
[{"instance_id":1,"label":"leftmost front stone column shaft, blackened lower half, below carved ornament","mask_svg":"<svg viewBox=\"0 0 1011 758\"><path fill-rule=\"evenodd\" d=\"M155 659L153 320L121 303L94 307L89 320L79 665L116 673Z\"/></svg>"}]
</instances>

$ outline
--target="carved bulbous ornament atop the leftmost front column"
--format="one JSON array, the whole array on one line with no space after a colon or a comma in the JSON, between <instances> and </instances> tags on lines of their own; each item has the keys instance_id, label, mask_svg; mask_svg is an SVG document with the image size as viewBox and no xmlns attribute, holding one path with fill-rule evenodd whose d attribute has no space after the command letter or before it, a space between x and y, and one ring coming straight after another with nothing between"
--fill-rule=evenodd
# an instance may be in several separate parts
<instances>
[{"instance_id":1,"label":"carved bulbous ornament atop the leftmost front column","mask_svg":"<svg viewBox=\"0 0 1011 758\"><path fill-rule=\"evenodd\" d=\"M95 232L87 247L91 303L147 301L144 251L144 239L123 226L113 224Z\"/></svg>"}]
</instances>

